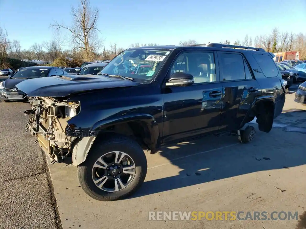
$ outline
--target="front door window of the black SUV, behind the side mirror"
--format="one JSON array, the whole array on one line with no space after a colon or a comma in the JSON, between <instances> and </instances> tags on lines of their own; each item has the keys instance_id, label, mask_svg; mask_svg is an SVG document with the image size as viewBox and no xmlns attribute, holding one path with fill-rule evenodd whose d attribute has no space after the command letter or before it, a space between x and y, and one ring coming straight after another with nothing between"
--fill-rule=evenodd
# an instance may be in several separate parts
<instances>
[{"instance_id":1,"label":"front door window of the black SUV, behind the side mirror","mask_svg":"<svg viewBox=\"0 0 306 229\"><path fill-rule=\"evenodd\" d=\"M216 67L214 53L190 52L177 57L170 70L170 76L175 72L191 74L194 83L216 81Z\"/></svg>"}]
</instances>

